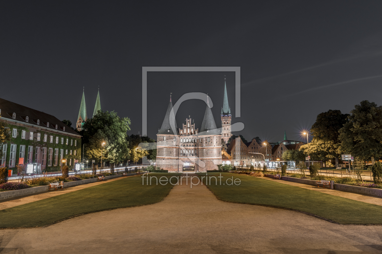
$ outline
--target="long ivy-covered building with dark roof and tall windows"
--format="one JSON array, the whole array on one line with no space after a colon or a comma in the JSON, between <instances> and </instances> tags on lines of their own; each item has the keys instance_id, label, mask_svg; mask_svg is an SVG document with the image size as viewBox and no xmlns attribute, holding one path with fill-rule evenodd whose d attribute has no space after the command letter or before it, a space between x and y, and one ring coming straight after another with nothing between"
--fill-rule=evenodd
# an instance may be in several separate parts
<instances>
[{"instance_id":1,"label":"long ivy-covered building with dark roof and tall windows","mask_svg":"<svg viewBox=\"0 0 382 254\"><path fill-rule=\"evenodd\" d=\"M36 163L41 171L60 171L63 159L70 168L81 159L81 136L53 115L5 99L0 99L0 114L11 133L11 141L0 144L5 151L0 167L16 174L17 165Z\"/></svg>"}]
</instances>

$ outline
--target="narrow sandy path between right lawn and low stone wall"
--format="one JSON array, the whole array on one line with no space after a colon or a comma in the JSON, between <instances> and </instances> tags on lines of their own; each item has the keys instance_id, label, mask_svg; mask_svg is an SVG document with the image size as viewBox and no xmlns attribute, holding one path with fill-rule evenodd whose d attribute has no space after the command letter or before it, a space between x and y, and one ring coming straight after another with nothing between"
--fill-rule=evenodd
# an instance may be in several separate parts
<instances>
[{"instance_id":1,"label":"narrow sandy path between right lawn and low stone wall","mask_svg":"<svg viewBox=\"0 0 382 254\"><path fill-rule=\"evenodd\" d=\"M282 184L293 185L293 186L301 187L301 188L308 189L308 190L315 190L317 192L323 192L323 193L327 193L327 194L334 195L334 196L341 196L343 198L349 198L352 200L357 200L357 201L361 201L361 202L365 202L365 203L377 204L379 206L382 206L382 198L377 197L377 196L358 194L358 193L353 193L353 192L344 192L341 190L324 189L324 188L319 188L319 187L315 187L312 185L300 184L297 182L288 182L288 181L283 181L283 180L278 180L278 179L272 179L269 177L261 177L261 179L280 182Z\"/></svg>"}]
</instances>

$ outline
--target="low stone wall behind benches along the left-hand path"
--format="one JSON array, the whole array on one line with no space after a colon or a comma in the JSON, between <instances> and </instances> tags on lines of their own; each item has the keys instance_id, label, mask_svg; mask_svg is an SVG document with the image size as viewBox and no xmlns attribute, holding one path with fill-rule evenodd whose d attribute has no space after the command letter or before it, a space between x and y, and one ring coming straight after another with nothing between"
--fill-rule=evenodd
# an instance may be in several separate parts
<instances>
[{"instance_id":1,"label":"low stone wall behind benches along the left-hand path","mask_svg":"<svg viewBox=\"0 0 382 254\"><path fill-rule=\"evenodd\" d=\"M136 175L137 173L129 173L127 176L133 176ZM114 176L105 176L105 180L107 179L113 179L117 177L121 177L123 175L114 175ZM85 179L81 181L72 181L72 182L64 182L64 189L68 187L73 187L76 185L82 185L82 184L90 184L91 182L97 182L98 178L91 178L91 179ZM32 187L32 188L27 188L27 189L22 189L22 190L7 190L5 192L0 192L0 200L5 200L8 198L15 198L18 196L25 196L25 195L31 195L31 194L36 194L40 192L46 192L49 190L49 185L44 185L44 186L37 186L37 187Z\"/></svg>"}]
</instances>

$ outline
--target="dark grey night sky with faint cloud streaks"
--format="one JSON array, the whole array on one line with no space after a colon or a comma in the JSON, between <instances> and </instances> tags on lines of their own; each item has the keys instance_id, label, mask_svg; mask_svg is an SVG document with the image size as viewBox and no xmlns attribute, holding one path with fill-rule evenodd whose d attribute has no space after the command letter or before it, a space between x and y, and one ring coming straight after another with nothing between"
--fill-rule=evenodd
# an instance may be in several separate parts
<instances>
[{"instance_id":1,"label":"dark grey night sky with faint cloud streaks","mask_svg":"<svg viewBox=\"0 0 382 254\"><path fill-rule=\"evenodd\" d=\"M183 3L180 4L180 3ZM187 3L187 4L185 4ZM317 114L349 113L363 100L382 104L381 1L0 2L0 97L77 120L83 86L92 116L103 110L142 131L142 66L240 66L241 117L232 72L148 75L148 136L188 92L208 93L218 128L224 75L233 123L249 141L303 140ZM206 105L183 103L200 129ZM238 133L233 133L238 134Z\"/></svg>"}]
</instances>

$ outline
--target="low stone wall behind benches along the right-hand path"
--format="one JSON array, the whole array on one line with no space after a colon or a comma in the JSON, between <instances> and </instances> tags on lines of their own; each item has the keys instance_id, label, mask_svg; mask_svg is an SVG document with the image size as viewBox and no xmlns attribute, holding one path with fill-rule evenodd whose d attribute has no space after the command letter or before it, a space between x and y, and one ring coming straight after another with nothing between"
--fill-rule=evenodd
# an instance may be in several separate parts
<instances>
[{"instance_id":1,"label":"low stone wall behind benches along the right-hand path","mask_svg":"<svg viewBox=\"0 0 382 254\"><path fill-rule=\"evenodd\" d=\"M270 175L270 174L267 174L264 176L273 178L273 175ZM317 186L316 180L301 179L301 178L288 177L288 176L282 176L281 180L288 181L288 182L298 182L299 184L307 184L307 185ZM335 190L342 190L345 192L354 192L354 193L359 193L359 194L366 194L366 195L371 195L371 196L382 197L382 189L367 188L367 187L354 186L354 185L348 185L348 184L334 184L334 189Z\"/></svg>"}]
</instances>

